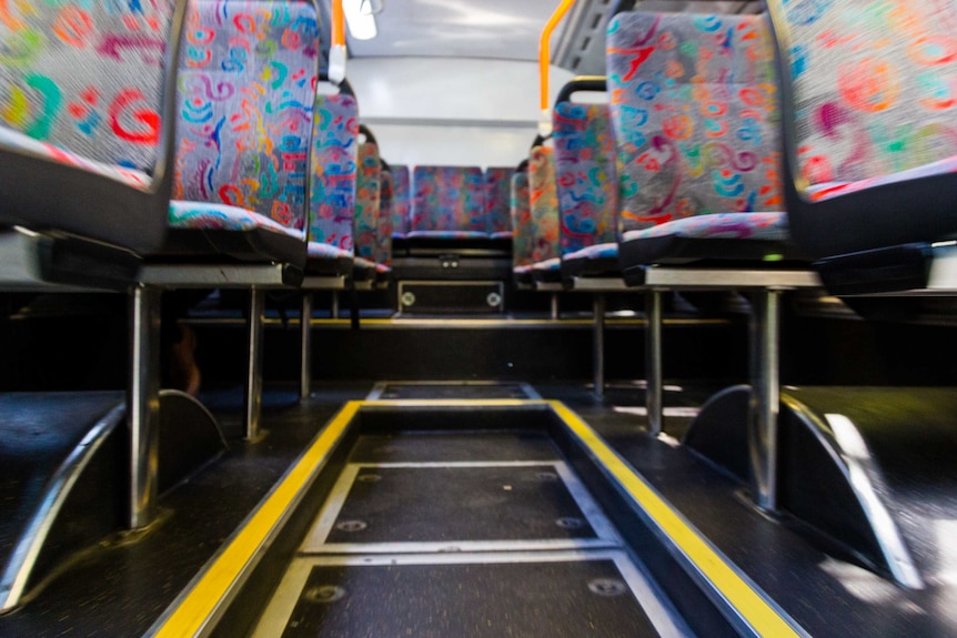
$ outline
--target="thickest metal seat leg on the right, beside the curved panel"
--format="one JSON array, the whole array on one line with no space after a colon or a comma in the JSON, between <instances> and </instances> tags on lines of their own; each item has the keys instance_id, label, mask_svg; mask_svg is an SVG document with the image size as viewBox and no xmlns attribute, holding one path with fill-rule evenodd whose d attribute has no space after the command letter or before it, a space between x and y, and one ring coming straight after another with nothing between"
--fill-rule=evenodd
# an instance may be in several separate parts
<instances>
[{"instance_id":1,"label":"thickest metal seat leg on the right, beside the curved panel","mask_svg":"<svg viewBox=\"0 0 957 638\"><path fill-rule=\"evenodd\" d=\"M752 320L752 393L748 411L748 455L757 506L777 509L777 416L779 402L780 291L764 288L754 295Z\"/></svg>"}]
</instances>

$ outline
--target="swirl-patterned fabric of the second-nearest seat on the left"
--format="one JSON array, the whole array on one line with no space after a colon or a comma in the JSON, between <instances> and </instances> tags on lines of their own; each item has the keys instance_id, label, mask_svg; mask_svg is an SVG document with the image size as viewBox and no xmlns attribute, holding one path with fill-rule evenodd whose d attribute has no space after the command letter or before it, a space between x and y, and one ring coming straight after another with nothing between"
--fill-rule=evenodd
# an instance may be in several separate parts
<instances>
[{"instance_id":1,"label":"swirl-patterned fabric of the second-nearest seat on the left","mask_svg":"<svg viewBox=\"0 0 957 638\"><path fill-rule=\"evenodd\" d=\"M315 10L309 2L250 0L190 7L180 63L180 201L171 204L171 223L240 230L234 216L252 211L262 229L275 230L265 223L272 220L304 240ZM218 210L205 214L197 202Z\"/></svg>"}]
</instances>

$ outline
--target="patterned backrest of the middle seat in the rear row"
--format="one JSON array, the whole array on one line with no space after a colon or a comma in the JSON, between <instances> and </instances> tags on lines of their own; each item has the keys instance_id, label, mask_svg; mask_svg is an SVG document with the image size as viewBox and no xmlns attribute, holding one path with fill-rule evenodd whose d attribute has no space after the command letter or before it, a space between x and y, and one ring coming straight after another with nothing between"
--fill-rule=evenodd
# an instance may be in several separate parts
<instances>
[{"instance_id":1,"label":"patterned backrest of the middle seat in the rear row","mask_svg":"<svg viewBox=\"0 0 957 638\"><path fill-rule=\"evenodd\" d=\"M487 237L482 169L415 166L410 237Z\"/></svg>"}]
</instances>

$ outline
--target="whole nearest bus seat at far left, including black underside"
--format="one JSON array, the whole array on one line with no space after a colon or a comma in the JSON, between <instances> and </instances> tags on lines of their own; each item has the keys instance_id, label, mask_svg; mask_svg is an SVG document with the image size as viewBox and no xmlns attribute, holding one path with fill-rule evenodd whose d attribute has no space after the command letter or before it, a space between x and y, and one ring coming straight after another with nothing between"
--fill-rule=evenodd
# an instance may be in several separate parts
<instances>
[{"instance_id":1,"label":"whole nearest bus seat at far left, including black underside","mask_svg":"<svg viewBox=\"0 0 957 638\"><path fill-rule=\"evenodd\" d=\"M60 29L63 12L81 20L83 32ZM58 272L34 273L42 275L37 281L83 285L112 280L115 269L94 272L94 263L115 257L112 263L122 264L119 279L125 285L139 263L130 251L143 254L162 244L184 12L184 0L117 8L102 2L17 3L4 10L0 229L11 230L3 232L3 246L27 236L12 230L19 226L43 233L50 245L84 255L67 263L52 257L50 270ZM135 45L103 49L93 38L100 32ZM52 253L59 254L57 249Z\"/></svg>"}]
</instances>

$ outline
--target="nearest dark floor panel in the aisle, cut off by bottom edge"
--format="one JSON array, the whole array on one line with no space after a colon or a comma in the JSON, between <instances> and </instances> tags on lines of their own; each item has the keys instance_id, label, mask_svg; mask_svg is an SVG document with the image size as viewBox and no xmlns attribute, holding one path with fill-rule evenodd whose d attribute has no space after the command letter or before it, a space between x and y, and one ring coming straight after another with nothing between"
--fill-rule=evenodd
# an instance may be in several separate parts
<instances>
[{"instance_id":1,"label":"nearest dark floor panel in the aisle, cut off by bottom edge","mask_svg":"<svg viewBox=\"0 0 957 638\"><path fill-rule=\"evenodd\" d=\"M611 560L319 566L283 638L657 636Z\"/></svg>"}]
</instances>

